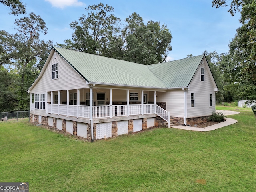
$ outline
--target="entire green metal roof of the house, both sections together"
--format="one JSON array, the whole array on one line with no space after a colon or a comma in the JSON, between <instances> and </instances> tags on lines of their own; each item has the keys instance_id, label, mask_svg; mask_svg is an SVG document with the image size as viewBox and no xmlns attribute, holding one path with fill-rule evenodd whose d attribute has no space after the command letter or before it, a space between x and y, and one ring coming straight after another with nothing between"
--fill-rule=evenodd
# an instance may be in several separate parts
<instances>
[{"instance_id":1,"label":"entire green metal roof of the house, both sections together","mask_svg":"<svg viewBox=\"0 0 256 192\"><path fill-rule=\"evenodd\" d=\"M199 55L146 66L64 48L53 48L88 82L164 89L187 87L204 57Z\"/></svg>"}]
</instances>

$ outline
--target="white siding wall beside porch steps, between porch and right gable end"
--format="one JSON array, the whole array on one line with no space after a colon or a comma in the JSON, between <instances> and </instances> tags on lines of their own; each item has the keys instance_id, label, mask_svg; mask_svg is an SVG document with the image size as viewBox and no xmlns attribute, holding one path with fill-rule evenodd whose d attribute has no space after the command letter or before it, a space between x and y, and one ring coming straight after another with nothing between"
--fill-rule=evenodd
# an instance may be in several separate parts
<instances>
[{"instance_id":1,"label":"white siding wall beside porch steps, between porch and right gable end","mask_svg":"<svg viewBox=\"0 0 256 192\"><path fill-rule=\"evenodd\" d=\"M184 117L184 91L170 90L167 92L156 92L157 102L166 102L166 110L170 116Z\"/></svg>"}]
</instances>

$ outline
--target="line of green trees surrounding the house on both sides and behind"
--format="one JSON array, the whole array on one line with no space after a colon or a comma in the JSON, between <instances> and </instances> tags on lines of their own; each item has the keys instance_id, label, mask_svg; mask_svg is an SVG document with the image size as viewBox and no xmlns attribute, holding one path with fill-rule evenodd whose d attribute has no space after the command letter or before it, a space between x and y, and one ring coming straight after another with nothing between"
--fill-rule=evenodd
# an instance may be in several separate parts
<instances>
[{"instance_id":1,"label":"line of green trees surrounding the house on both sides and behind","mask_svg":"<svg viewBox=\"0 0 256 192\"><path fill-rule=\"evenodd\" d=\"M0 0L10 7L10 14L25 14L26 5L19 0ZM228 0L213 0L213 7L227 6ZM230 14L241 13L242 27L229 44L229 52L204 51L219 88L216 102L256 98L255 0L233 0ZM70 39L54 46L140 64L165 62L172 50L172 34L165 24L148 21L136 12L124 23L114 15L114 8L102 3L85 8L85 14L70 23ZM26 92L46 60L52 40L44 20L30 13L15 22L15 34L0 30L0 112L29 110ZM192 56L192 55L188 55Z\"/></svg>"}]
</instances>

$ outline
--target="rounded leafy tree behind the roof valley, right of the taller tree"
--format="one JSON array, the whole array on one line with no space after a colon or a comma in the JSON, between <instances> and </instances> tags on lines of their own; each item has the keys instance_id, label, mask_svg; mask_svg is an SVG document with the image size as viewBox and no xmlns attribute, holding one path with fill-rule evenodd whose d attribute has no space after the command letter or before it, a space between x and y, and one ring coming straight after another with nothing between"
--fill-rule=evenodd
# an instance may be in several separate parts
<instances>
[{"instance_id":1,"label":"rounded leafy tree behind the roof valley, right of the taller tree","mask_svg":"<svg viewBox=\"0 0 256 192\"><path fill-rule=\"evenodd\" d=\"M125 19L122 30L125 40L124 60L140 64L154 64L166 61L172 34L166 25L148 21L144 24L142 17L134 12Z\"/></svg>"}]
</instances>

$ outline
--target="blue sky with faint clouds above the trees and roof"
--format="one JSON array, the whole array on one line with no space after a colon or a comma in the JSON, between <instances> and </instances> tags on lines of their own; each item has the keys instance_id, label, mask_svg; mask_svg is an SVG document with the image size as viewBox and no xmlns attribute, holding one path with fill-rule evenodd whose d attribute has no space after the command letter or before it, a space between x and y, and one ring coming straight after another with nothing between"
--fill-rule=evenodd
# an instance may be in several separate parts
<instances>
[{"instance_id":1,"label":"blue sky with faint clouds above the trees and roof","mask_svg":"<svg viewBox=\"0 0 256 192\"><path fill-rule=\"evenodd\" d=\"M213 8L212 0L22 0L26 4L27 14L18 16L8 14L10 9L0 4L0 30L16 33L14 21L33 12L46 22L48 33L41 38L52 40L53 44L63 44L72 39L69 24L87 14L89 5L108 4L114 8L114 15L123 24L124 19L133 12L147 21L165 24L172 33L172 51L167 60L186 58L188 54L197 56L205 50L217 53L228 52L228 43L234 38L240 14L234 17L228 13L228 7Z\"/></svg>"}]
</instances>

